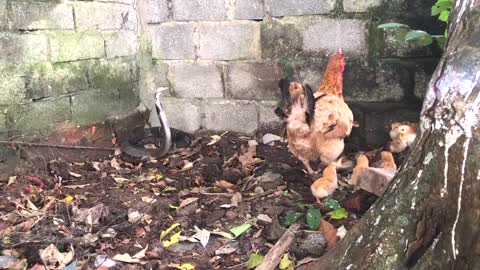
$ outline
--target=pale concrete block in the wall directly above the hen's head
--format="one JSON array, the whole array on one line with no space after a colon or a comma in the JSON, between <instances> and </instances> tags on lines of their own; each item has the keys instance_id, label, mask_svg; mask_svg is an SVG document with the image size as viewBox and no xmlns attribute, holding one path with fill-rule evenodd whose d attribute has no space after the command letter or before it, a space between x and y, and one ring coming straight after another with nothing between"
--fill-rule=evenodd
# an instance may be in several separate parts
<instances>
[{"instance_id":1,"label":"pale concrete block in the wall directly above the hen's head","mask_svg":"<svg viewBox=\"0 0 480 270\"><path fill-rule=\"evenodd\" d=\"M366 21L320 18L302 31L303 49L307 52L334 52L338 48L348 55L368 53Z\"/></svg>"}]
</instances>

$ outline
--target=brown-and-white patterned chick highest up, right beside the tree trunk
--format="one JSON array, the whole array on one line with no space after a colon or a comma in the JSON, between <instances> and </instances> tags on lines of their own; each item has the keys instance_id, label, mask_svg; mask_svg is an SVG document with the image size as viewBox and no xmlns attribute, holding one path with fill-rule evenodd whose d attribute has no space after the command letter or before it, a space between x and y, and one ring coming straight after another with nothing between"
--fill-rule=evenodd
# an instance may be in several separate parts
<instances>
[{"instance_id":1,"label":"brown-and-white patterned chick highest up, right beside the tree trunk","mask_svg":"<svg viewBox=\"0 0 480 270\"><path fill-rule=\"evenodd\" d=\"M407 147L411 147L415 138L417 137L417 125L415 123L400 123L395 122L391 125L390 151L393 153L400 153L405 151Z\"/></svg>"}]
</instances>

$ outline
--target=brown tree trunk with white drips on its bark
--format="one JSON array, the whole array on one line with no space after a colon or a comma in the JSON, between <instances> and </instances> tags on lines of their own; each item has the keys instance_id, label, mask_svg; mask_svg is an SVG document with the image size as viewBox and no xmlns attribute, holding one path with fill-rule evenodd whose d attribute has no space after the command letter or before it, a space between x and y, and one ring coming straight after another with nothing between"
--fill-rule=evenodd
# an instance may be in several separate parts
<instances>
[{"instance_id":1,"label":"brown tree trunk with white drips on its bark","mask_svg":"<svg viewBox=\"0 0 480 270\"><path fill-rule=\"evenodd\" d=\"M298 269L480 269L480 0L457 0L421 135L385 195Z\"/></svg>"}]
</instances>

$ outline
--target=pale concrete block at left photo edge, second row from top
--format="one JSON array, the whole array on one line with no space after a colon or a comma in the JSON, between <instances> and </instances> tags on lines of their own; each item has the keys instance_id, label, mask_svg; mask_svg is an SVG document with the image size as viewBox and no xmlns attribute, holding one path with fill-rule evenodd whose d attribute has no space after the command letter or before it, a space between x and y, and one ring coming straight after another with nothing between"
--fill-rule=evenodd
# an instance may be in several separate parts
<instances>
[{"instance_id":1,"label":"pale concrete block at left photo edge, second row from top","mask_svg":"<svg viewBox=\"0 0 480 270\"><path fill-rule=\"evenodd\" d=\"M49 55L48 38L42 34L0 33L0 50L0 63L46 62Z\"/></svg>"}]
</instances>

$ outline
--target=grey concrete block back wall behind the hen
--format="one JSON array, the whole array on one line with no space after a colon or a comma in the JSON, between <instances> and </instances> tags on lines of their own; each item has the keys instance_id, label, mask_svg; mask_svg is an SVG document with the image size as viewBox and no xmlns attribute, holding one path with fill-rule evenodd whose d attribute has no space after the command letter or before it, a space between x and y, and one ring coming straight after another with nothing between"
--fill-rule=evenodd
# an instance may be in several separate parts
<instances>
[{"instance_id":1,"label":"grey concrete block back wall behind the hen","mask_svg":"<svg viewBox=\"0 0 480 270\"><path fill-rule=\"evenodd\" d=\"M145 76L145 106L151 107L156 89L167 88L164 103L173 126L252 134L278 125L273 108L280 78L317 87L328 55L341 47L347 55L345 97L358 119L393 114L391 108L415 115L438 50L398 42L402 33L376 28L387 19L411 23L402 16L420 10L429 16L429 3L414 2L147 1L140 16L146 69L156 70L157 78Z\"/></svg>"}]
</instances>

